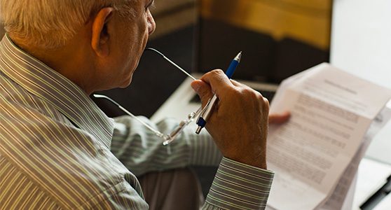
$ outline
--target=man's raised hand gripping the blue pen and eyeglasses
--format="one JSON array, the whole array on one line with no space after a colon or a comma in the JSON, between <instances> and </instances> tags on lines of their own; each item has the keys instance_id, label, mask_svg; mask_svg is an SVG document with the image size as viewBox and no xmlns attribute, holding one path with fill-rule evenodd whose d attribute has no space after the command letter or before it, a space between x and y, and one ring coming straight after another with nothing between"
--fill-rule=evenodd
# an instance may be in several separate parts
<instances>
[{"instance_id":1,"label":"man's raised hand gripping the blue pen and eyeglasses","mask_svg":"<svg viewBox=\"0 0 391 210\"><path fill-rule=\"evenodd\" d=\"M213 92L219 99L206 128L224 157L266 169L268 100L246 85L229 80L221 70L206 73L191 86L203 106ZM272 121L279 119L273 117Z\"/></svg>"}]
</instances>

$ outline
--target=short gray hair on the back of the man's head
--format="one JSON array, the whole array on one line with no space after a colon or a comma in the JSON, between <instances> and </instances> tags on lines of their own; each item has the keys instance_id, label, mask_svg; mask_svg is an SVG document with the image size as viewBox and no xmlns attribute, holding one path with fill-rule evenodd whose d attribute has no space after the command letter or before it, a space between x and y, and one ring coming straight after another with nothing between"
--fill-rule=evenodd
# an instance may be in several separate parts
<instances>
[{"instance_id":1,"label":"short gray hair on the back of the man's head","mask_svg":"<svg viewBox=\"0 0 391 210\"><path fill-rule=\"evenodd\" d=\"M135 0L0 0L0 18L11 37L38 48L59 48L91 15L112 6L121 15L134 13Z\"/></svg>"}]
</instances>

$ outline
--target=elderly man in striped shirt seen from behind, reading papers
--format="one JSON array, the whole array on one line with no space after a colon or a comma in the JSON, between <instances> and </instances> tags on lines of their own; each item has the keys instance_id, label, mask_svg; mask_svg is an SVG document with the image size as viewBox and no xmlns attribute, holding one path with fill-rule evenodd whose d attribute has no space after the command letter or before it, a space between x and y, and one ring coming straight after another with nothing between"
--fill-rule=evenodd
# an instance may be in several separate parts
<instances>
[{"instance_id":1,"label":"elderly man in striped shirt seen from behind, reading papers","mask_svg":"<svg viewBox=\"0 0 391 210\"><path fill-rule=\"evenodd\" d=\"M207 125L216 144L185 131L170 149L132 118L107 118L88 97L130 84L155 29L152 4L0 0L7 32L0 43L0 209L148 209L153 188L145 200L135 174L187 165L219 165L203 208L265 207L273 172L266 170L268 101L258 92L221 70L205 74L192 87L203 104L212 92L219 97ZM173 205L153 207L186 208L180 197L167 200Z\"/></svg>"}]
</instances>

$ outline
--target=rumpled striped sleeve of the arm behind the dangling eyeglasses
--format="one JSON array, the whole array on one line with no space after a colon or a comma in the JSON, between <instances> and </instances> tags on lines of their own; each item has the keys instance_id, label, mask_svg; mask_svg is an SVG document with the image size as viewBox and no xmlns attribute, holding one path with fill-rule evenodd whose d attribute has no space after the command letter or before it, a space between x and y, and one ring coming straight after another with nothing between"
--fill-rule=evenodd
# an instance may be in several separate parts
<instances>
[{"instance_id":1,"label":"rumpled striped sleeve of the arm behind the dangling eyeglasses","mask_svg":"<svg viewBox=\"0 0 391 210\"><path fill-rule=\"evenodd\" d=\"M170 133L178 125L177 120L165 119L154 124L147 118L139 118L163 133ZM221 153L206 132L198 135L186 127L171 144L163 146L163 139L134 118L121 116L114 120L111 152L136 176L188 165L218 166L221 161Z\"/></svg>"}]
</instances>

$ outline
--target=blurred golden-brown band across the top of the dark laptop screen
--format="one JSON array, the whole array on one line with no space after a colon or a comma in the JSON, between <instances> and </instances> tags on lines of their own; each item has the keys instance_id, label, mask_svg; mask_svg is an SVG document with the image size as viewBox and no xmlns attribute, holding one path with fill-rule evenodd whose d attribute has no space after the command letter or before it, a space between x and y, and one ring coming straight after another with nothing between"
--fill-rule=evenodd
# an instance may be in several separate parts
<instances>
[{"instance_id":1,"label":"blurred golden-brown band across the top of the dark laptop screen","mask_svg":"<svg viewBox=\"0 0 391 210\"><path fill-rule=\"evenodd\" d=\"M200 0L203 18L329 49L331 0Z\"/></svg>"}]
</instances>

